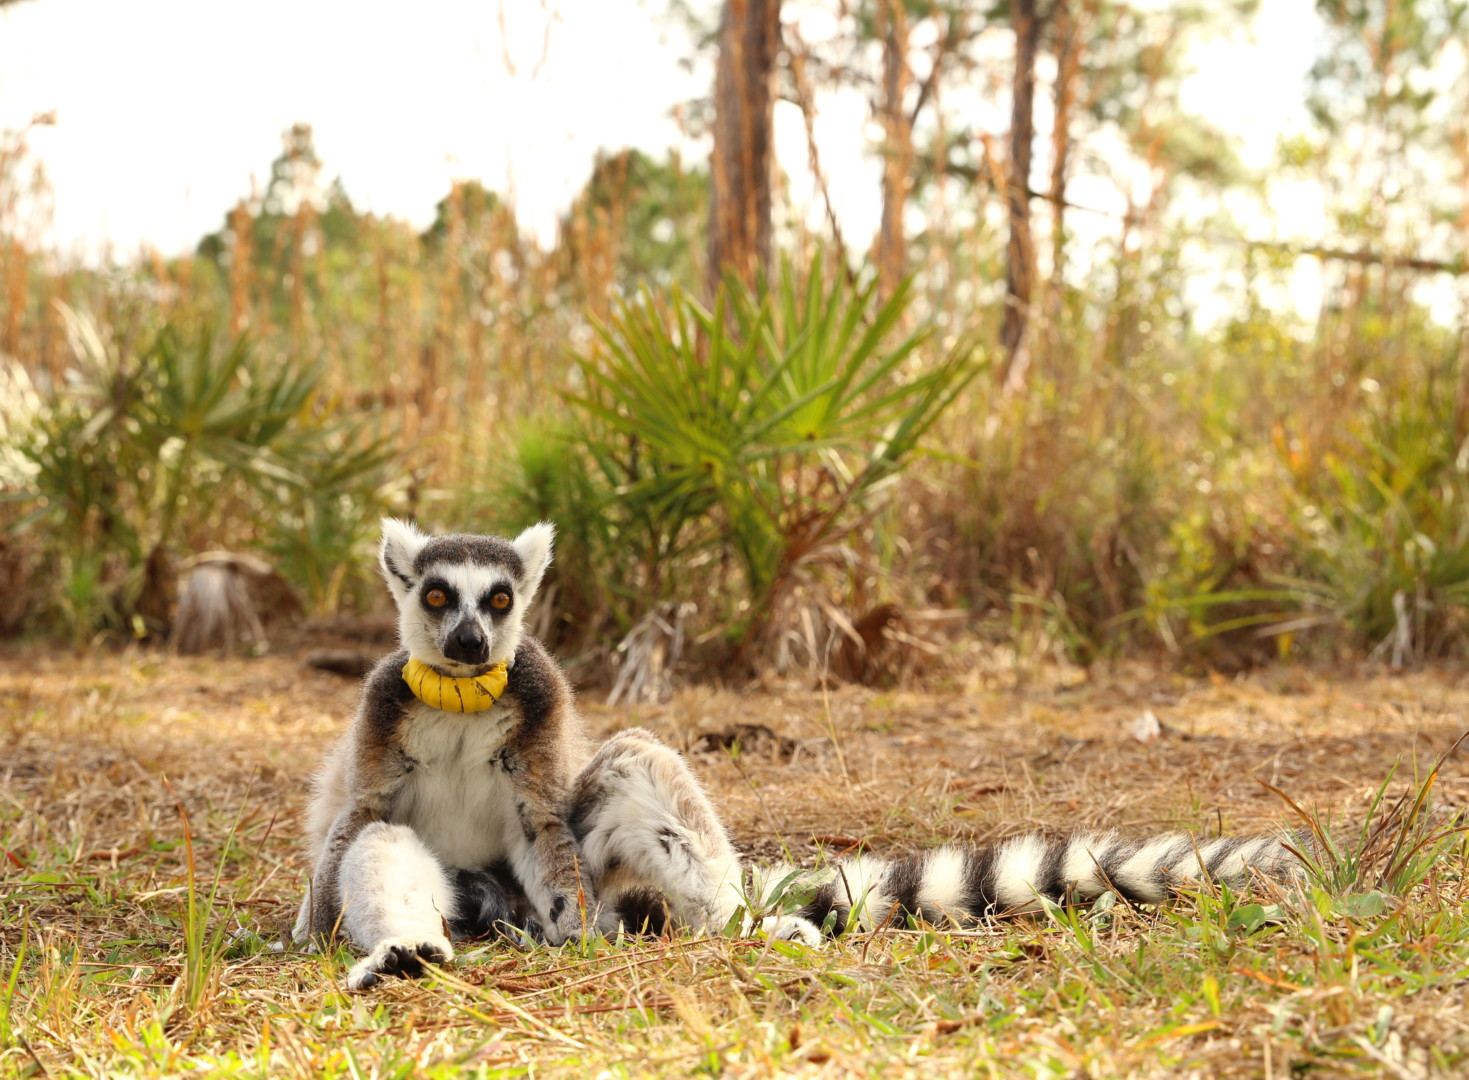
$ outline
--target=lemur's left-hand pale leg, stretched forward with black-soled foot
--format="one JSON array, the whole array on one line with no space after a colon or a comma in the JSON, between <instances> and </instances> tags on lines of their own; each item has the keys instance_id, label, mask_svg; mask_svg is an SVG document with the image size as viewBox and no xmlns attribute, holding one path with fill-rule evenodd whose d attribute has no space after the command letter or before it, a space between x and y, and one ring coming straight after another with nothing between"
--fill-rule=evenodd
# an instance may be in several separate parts
<instances>
[{"instance_id":1,"label":"lemur's left-hand pale leg, stretched forward with black-soled foot","mask_svg":"<svg viewBox=\"0 0 1469 1080\"><path fill-rule=\"evenodd\" d=\"M452 960L454 880L407 826L375 821L361 829L342 854L336 888L342 932L367 949L347 974L348 989L389 974L420 976L425 962Z\"/></svg>"}]
</instances>

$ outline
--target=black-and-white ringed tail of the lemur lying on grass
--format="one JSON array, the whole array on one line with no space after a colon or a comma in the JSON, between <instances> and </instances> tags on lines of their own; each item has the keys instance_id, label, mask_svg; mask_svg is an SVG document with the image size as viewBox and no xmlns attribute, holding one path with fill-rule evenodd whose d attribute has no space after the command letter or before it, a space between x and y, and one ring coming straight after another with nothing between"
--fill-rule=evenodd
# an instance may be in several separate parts
<instances>
[{"instance_id":1,"label":"black-and-white ringed tail of the lemur lying on grass","mask_svg":"<svg viewBox=\"0 0 1469 1080\"><path fill-rule=\"evenodd\" d=\"M755 871L751 896L767 910L784 907L777 893L799 896L799 908L765 920L764 929L815 943L818 927L839 935L846 929L902 926L908 917L967 926L996 915L1037 912L1043 901L1090 901L1109 890L1134 904L1158 904L1206 879L1234 889L1256 874L1296 880L1304 868L1288 843L1293 838L1031 833L983 848L937 848L896 858L856 855L805 873L774 865Z\"/></svg>"}]
</instances>

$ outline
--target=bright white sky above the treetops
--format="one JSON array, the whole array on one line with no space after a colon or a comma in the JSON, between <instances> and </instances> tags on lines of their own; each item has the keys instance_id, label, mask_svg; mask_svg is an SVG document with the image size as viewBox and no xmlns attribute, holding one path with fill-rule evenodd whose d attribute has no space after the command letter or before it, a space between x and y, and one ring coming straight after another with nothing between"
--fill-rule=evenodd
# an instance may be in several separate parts
<instances>
[{"instance_id":1,"label":"bright white sky above the treetops","mask_svg":"<svg viewBox=\"0 0 1469 1080\"><path fill-rule=\"evenodd\" d=\"M599 147L663 151L683 71L664 0L29 0L0 9L0 128L56 110L31 147L65 251L178 253L264 181L281 132L316 129L326 175L364 209L426 225L454 178L510 191L544 241ZM1196 53L1185 104L1263 165L1306 123L1312 0L1265 0L1253 35ZM1042 118L1043 126L1044 118ZM852 96L820 103L818 144L849 242L877 225L876 132ZM795 107L777 156L814 198ZM1078 194L1078 201L1084 201ZM1297 212L1291 212L1299 219ZM1299 220L1297 220L1299 225Z\"/></svg>"}]
</instances>

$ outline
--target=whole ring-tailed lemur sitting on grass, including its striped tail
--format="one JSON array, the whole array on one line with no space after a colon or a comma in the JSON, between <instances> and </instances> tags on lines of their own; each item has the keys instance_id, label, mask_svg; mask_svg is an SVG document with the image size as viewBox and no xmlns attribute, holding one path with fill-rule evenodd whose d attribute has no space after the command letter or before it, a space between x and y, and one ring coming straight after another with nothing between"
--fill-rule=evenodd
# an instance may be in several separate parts
<instances>
[{"instance_id":1,"label":"whole ring-tailed lemur sitting on grass, including its striped tail","mask_svg":"<svg viewBox=\"0 0 1469 1080\"><path fill-rule=\"evenodd\" d=\"M297 942L341 930L364 949L353 989L419 974L452 958L451 937L495 930L552 945L664 921L721 932L790 885L786 870L765 870L746 899L704 788L655 736L624 730L591 751L566 676L523 632L552 535L542 523L514 541L430 538L383 522L403 649L367 676L317 776L316 868L294 930ZM1300 863L1277 839L1018 836L840 860L806 876L799 911L759 926L817 945L896 915L962 924L1108 889L1156 902L1203 876L1243 885L1255 870L1293 876Z\"/></svg>"}]
</instances>

